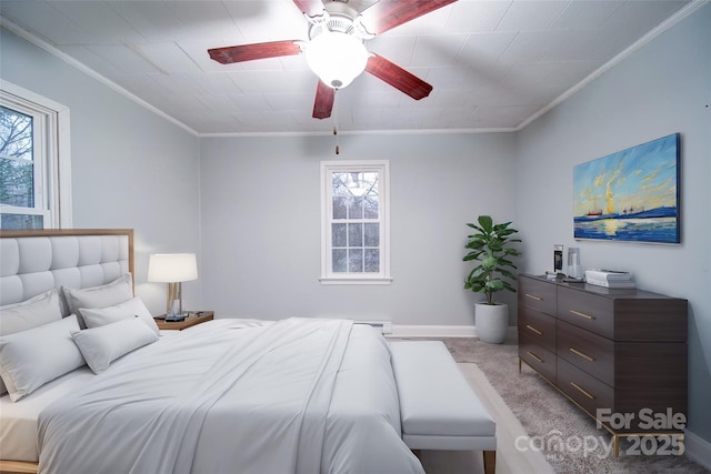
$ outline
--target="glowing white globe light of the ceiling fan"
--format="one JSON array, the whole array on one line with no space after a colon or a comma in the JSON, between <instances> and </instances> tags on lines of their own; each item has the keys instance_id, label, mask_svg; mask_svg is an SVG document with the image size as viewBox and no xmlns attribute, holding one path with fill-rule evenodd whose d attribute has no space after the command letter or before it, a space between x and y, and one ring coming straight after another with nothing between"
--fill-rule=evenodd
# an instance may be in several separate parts
<instances>
[{"instance_id":1,"label":"glowing white globe light of the ceiling fan","mask_svg":"<svg viewBox=\"0 0 711 474\"><path fill-rule=\"evenodd\" d=\"M306 48L309 68L330 88L342 89L365 70L368 50L349 33L323 31Z\"/></svg>"}]
</instances>

